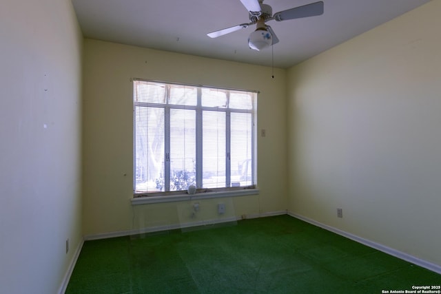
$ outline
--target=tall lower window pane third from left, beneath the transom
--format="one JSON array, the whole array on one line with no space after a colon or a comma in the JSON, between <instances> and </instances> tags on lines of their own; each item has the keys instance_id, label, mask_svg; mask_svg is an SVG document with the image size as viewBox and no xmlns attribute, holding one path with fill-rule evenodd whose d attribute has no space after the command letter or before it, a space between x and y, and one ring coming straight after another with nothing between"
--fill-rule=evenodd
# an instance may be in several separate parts
<instances>
[{"instance_id":1,"label":"tall lower window pane third from left, beneath the transom","mask_svg":"<svg viewBox=\"0 0 441 294\"><path fill-rule=\"evenodd\" d=\"M225 112L203 112L204 188L225 187Z\"/></svg>"}]
</instances>

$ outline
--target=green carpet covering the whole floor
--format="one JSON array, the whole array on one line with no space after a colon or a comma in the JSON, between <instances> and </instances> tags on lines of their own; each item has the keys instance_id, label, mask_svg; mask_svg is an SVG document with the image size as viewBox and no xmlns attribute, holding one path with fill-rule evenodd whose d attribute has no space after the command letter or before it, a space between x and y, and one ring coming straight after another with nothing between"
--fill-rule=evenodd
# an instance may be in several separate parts
<instances>
[{"instance_id":1,"label":"green carpet covering the whole floor","mask_svg":"<svg viewBox=\"0 0 441 294\"><path fill-rule=\"evenodd\" d=\"M441 275L290 216L87 241L66 293L382 293Z\"/></svg>"}]
</instances>

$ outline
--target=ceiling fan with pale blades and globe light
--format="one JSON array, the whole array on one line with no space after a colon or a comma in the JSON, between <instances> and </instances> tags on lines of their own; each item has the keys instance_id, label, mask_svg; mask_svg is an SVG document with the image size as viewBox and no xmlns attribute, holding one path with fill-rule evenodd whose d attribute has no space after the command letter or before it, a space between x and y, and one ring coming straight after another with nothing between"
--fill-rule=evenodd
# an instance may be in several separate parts
<instances>
[{"instance_id":1,"label":"ceiling fan with pale blades and globe light","mask_svg":"<svg viewBox=\"0 0 441 294\"><path fill-rule=\"evenodd\" d=\"M211 38L223 36L230 32L236 32L237 30L248 28L249 25L256 24L256 30L249 34L248 45L249 48L254 50L262 50L278 43L278 38L274 33L274 30L266 24L267 21L287 21L289 19L301 19L302 17L315 17L316 15L323 14L323 1L310 3L304 6L298 6L276 12L272 14L271 6L263 4L263 0L240 0L243 6L247 8L249 12L249 23L242 23L235 25L234 27L225 28L223 30L216 30L207 34Z\"/></svg>"}]
</instances>

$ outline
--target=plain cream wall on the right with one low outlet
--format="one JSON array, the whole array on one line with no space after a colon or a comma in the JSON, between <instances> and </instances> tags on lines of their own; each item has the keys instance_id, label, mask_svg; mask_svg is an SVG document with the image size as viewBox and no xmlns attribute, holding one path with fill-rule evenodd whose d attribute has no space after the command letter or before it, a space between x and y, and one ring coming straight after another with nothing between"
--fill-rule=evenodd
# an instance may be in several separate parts
<instances>
[{"instance_id":1,"label":"plain cream wall on the right with one low outlet","mask_svg":"<svg viewBox=\"0 0 441 294\"><path fill-rule=\"evenodd\" d=\"M435 264L440 11L431 1L287 76L289 211Z\"/></svg>"}]
</instances>

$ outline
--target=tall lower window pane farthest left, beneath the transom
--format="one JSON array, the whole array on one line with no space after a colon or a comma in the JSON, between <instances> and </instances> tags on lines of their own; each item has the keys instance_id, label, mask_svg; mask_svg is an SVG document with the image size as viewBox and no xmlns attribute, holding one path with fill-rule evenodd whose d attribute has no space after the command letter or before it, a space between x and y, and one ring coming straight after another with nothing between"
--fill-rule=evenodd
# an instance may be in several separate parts
<instances>
[{"instance_id":1,"label":"tall lower window pane farthest left, beneath the transom","mask_svg":"<svg viewBox=\"0 0 441 294\"><path fill-rule=\"evenodd\" d=\"M135 108L135 193L164 191L164 109Z\"/></svg>"}]
</instances>

